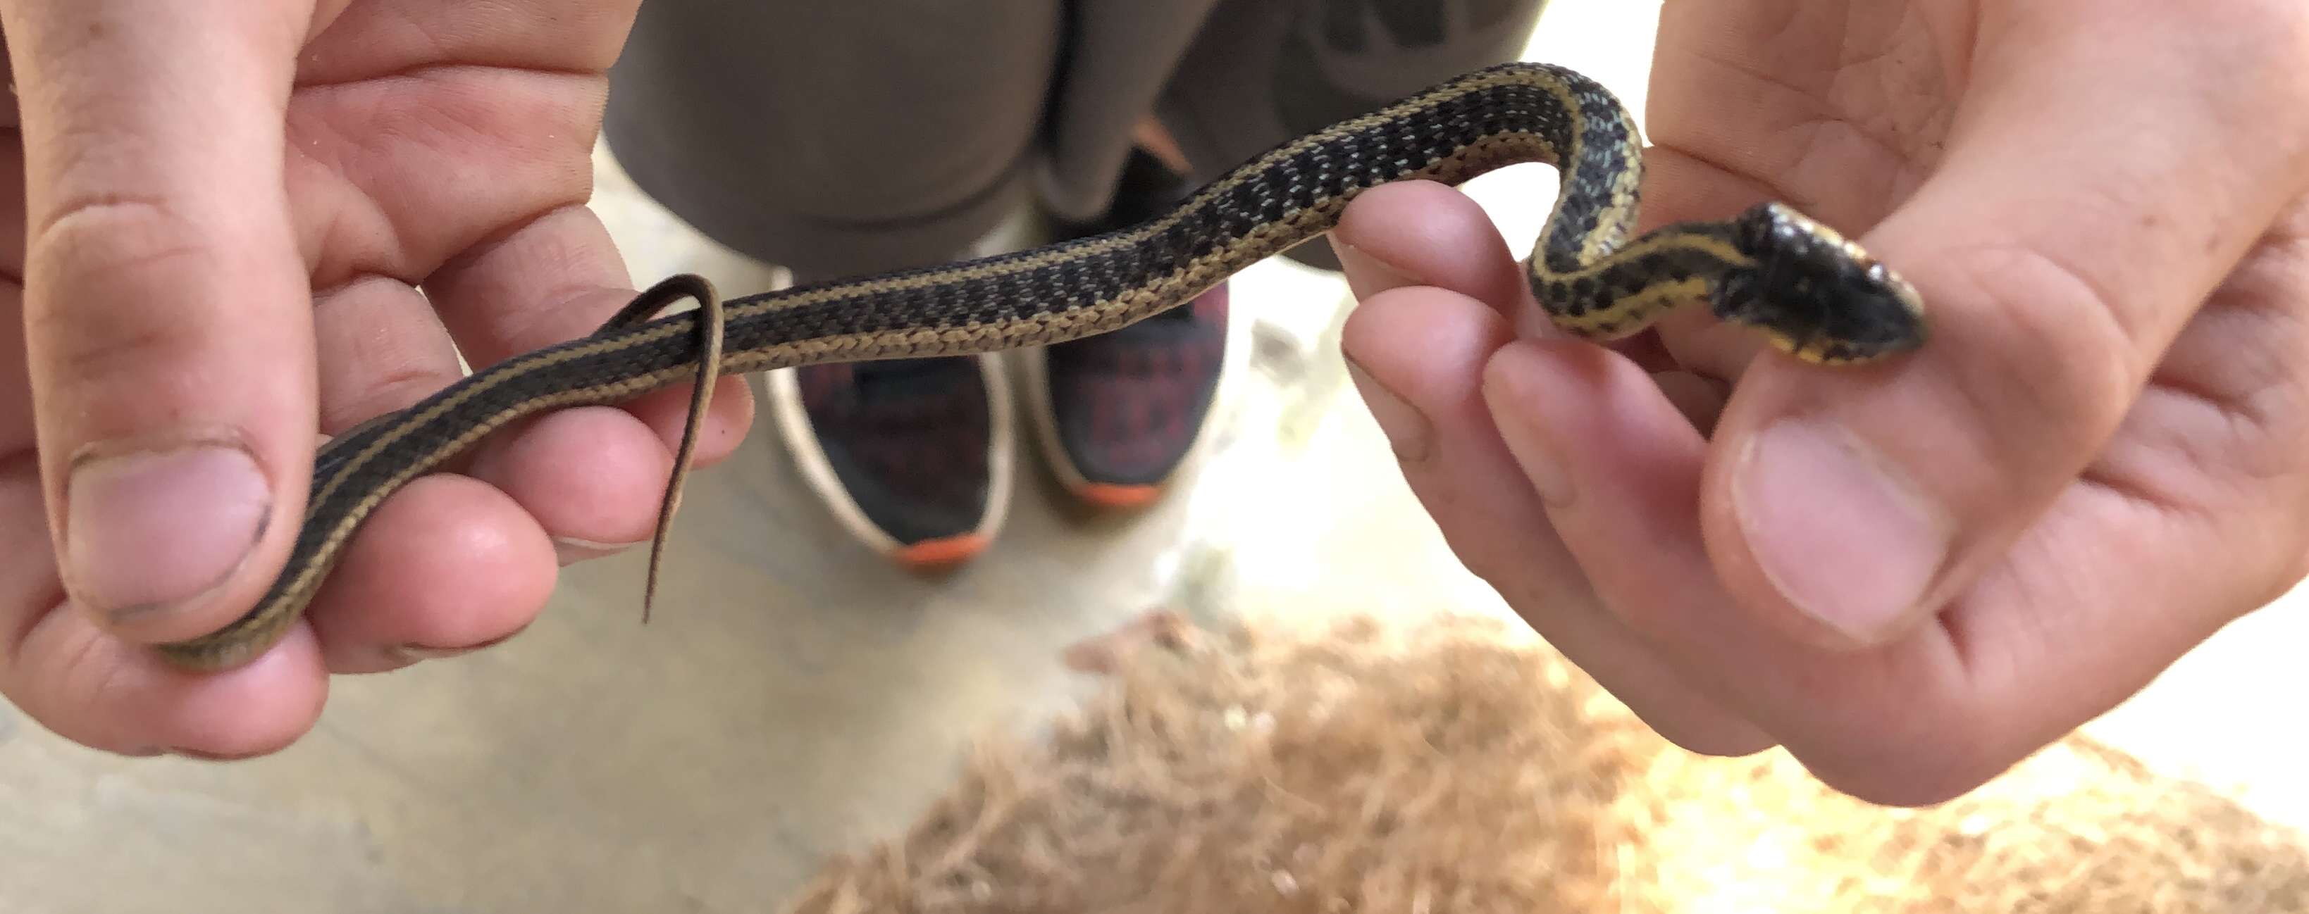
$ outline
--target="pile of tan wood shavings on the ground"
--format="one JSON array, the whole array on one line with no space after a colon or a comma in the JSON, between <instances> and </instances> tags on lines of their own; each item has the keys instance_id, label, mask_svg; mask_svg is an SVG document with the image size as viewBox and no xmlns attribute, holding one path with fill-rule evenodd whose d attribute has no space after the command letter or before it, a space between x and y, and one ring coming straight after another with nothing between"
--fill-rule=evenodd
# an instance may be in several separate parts
<instances>
[{"instance_id":1,"label":"pile of tan wood shavings on the ground","mask_svg":"<svg viewBox=\"0 0 2309 914\"><path fill-rule=\"evenodd\" d=\"M2309 840L2069 739L1930 810L1709 759L1489 619L1154 616L792 914L2309 912Z\"/></svg>"}]
</instances>

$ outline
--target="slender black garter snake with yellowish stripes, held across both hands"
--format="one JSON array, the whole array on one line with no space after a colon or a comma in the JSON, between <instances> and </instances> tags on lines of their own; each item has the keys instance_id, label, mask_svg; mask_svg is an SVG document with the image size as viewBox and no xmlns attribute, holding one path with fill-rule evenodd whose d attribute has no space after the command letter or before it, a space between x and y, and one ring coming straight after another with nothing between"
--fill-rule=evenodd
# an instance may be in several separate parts
<instances>
[{"instance_id":1,"label":"slender black garter snake with yellowish stripes, held across both hands","mask_svg":"<svg viewBox=\"0 0 2309 914\"><path fill-rule=\"evenodd\" d=\"M483 367L330 439L270 591L222 630L159 651L192 669L263 653L386 496L506 422L697 381L651 540L647 612L670 508L720 374L988 353L1115 330L1330 231L1369 187L1413 178L1457 185L1522 162L1559 171L1526 272L1538 302L1572 335L1616 339L1667 309L1706 302L1718 319L1810 362L1861 362L1923 342L1914 289L1783 203L1635 235L1642 138L1630 113L1577 72L1499 65L1281 143L1171 212L1106 235L727 302L700 277L672 277L589 337ZM683 298L700 307L660 316Z\"/></svg>"}]
</instances>

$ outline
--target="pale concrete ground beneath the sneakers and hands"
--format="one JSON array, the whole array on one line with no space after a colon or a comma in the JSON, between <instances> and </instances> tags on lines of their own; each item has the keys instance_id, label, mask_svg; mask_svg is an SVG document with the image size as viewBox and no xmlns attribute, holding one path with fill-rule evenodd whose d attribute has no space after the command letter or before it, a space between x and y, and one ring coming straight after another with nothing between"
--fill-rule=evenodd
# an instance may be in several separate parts
<instances>
[{"instance_id":1,"label":"pale concrete ground beneath the sneakers and hands","mask_svg":"<svg viewBox=\"0 0 2309 914\"><path fill-rule=\"evenodd\" d=\"M1642 104L1656 2L1559 0L1531 58ZM1545 168L1473 192L1531 238ZM635 279L776 277L697 240L603 162ZM1496 612L1404 489L1337 358L1344 286L1242 275L1247 335L1217 448L1134 519L1064 510L1023 469L1014 519L944 582L852 545L767 422L697 475L658 616L642 556L566 575L524 637L335 686L319 729L245 764L113 759L0 706L0 912L760 912L824 854L901 829L956 752L1083 683L1064 644L1150 605L1224 614ZM2309 824L2297 739L2304 595L2237 623L2092 732Z\"/></svg>"}]
</instances>

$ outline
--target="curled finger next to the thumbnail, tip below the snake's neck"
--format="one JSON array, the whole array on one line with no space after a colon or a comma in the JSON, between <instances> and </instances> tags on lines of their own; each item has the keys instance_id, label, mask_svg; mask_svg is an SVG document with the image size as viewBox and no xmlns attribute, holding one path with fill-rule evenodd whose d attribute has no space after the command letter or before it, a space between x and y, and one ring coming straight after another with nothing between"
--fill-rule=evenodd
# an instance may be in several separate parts
<instances>
[{"instance_id":1,"label":"curled finger next to the thumbnail, tip below the snake's neck","mask_svg":"<svg viewBox=\"0 0 2309 914\"><path fill-rule=\"evenodd\" d=\"M1880 702L1912 695L1944 702L1930 711L1956 704L1963 669L1946 639L1822 655L1725 612L1732 595L1699 538L1706 441L1639 367L1577 342L1517 342L1492 358L1485 399L1519 466L1566 492L1549 501L1549 519L1596 593L1690 688L1870 801L1923 803L1977 776L1942 769L1951 755L1970 757L1946 718L1891 713ZM1935 725L1946 743L1919 752ZM1889 773L1898 778L1875 778Z\"/></svg>"}]
</instances>

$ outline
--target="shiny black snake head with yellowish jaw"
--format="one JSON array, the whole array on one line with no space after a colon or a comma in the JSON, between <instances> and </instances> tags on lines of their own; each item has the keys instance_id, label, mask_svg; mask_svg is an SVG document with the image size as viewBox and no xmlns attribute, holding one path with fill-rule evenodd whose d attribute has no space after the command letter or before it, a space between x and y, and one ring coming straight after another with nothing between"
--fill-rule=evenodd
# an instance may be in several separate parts
<instances>
[{"instance_id":1,"label":"shiny black snake head with yellowish jaw","mask_svg":"<svg viewBox=\"0 0 2309 914\"><path fill-rule=\"evenodd\" d=\"M1755 261L1716 286L1716 316L1810 362L1866 362L1923 344L1923 298L1859 245L1783 203L1732 222Z\"/></svg>"}]
</instances>

